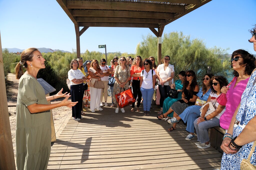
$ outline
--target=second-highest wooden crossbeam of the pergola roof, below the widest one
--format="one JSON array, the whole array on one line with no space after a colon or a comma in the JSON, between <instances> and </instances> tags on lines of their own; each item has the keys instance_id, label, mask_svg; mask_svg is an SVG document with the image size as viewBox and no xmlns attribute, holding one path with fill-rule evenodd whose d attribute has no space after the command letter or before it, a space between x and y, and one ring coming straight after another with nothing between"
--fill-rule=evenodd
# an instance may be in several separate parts
<instances>
[{"instance_id":1,"label":"second-highest wooden crossbeam of the pergola roof, below the widest one","mask_svg":"<svg viewBox=\"0 0 256 170\"><path fill-rule=\"evenodd\" d=\"M125 17L125 18L174 19L173 13L141 12L141 11L110 11L110 10L73 9L72 15L76 16L76 17Z\"/></svg>"}]
</instances>

